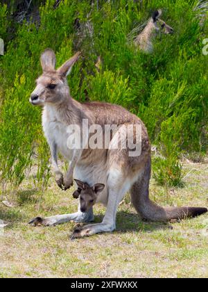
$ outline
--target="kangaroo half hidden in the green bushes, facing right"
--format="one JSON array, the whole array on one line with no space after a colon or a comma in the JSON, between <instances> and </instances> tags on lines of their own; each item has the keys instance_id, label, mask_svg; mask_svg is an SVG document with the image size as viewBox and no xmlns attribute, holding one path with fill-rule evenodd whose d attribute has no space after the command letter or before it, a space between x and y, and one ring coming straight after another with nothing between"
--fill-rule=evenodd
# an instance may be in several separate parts
<instances>
[{"instance_id":1,"label":"kangaroo half hidden in the green bushes, facing right","mask_svg":"<svg viewBox=\"0 0 208 292\"><path fill-rule=\"evenodd\" d=\"M149 19L148 24L144 30L135 38L135 45L139 46L141 51L146 53L153 53L153 39L157 33L173 34L174 31L171 26L168 26L159 17L162 15L162 10L157 10Z\"/></svg>"}]
</instances>

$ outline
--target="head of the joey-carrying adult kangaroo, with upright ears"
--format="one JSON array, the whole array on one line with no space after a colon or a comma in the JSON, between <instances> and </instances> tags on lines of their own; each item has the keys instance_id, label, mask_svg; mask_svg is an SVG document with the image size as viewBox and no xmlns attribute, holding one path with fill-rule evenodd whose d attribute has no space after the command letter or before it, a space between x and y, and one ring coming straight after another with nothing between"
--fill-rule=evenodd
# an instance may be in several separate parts
<instances>
[{"instance_id":1,"label":"head of the joey-carrying adult kangaroo, with upright ears","mask_svg":"<svg viewBox=\"0 0 208 292\"><path fill-rule=\"evenodd\" d=\"M55 70L55 53L52 49L46 49L40 57L43 74L36 81L37 86L30 98L31 104L34 106L43 106L47 103L60 104L64 99L69 98L67 76L79 56L78 52Z\"/></svg>"}]
</instances>

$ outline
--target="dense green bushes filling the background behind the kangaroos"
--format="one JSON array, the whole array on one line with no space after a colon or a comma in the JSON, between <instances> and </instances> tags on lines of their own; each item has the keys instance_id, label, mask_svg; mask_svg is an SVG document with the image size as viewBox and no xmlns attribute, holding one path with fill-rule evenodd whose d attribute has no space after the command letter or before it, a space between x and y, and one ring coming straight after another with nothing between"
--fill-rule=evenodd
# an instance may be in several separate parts
<instances>
[{"instance_id":1,"label":"dense green bushes filling the background behind the kangaroos","mask_svg":"<svg viewBox=\"0 0 208 292\"><path fill-rule=\"evenodd\" d=\"M121 104L139 115L164 157L155 161L157 181L179 184L181 152L207 151L207 56L202 55L202 40L208 26L206 19L201 26L199 13L193 11L197 2L118 0L98 1L97 7L97 1L87 0L56 1L56 5L52 0L34 1L31 9L40 6L40 21L21 24L12 20L20 7L15 1L8 8L0 4L0 38L6 41L6 54L0 56L1 181L19 186L35 152L37 181L46 186L49 156L41 111L28 99L42 71L40 54L51 47L58 65L82 51L69 77L71 95L80 102ZM135 48L129 35L155 8L163 9L162 19L175 34L159 35L154 53L147 55ZM100 72L95 67L98 56Z\"/></svg>"}]
</instances>

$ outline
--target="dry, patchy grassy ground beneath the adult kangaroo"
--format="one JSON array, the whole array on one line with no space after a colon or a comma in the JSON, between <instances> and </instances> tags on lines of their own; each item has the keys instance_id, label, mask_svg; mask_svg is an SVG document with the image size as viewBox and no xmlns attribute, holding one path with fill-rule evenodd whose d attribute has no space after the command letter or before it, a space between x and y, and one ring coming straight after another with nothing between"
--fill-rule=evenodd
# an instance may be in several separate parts
<instances>
[{"instance_id":1,"label":"dry, patchy grassy ground beneath the adult kangaroo","mask_svg":"<svg viewBox=\"0 0 208 292\"><path fill-rule=\"evenodd\" d=\"M184 165L185 186L164 189L151 181L153 200L163 205L207 206L208 164ZM31 227L28 220L76 211L71 191L53 183L44 194L32 179L22 186L13 208L0 204L10 222L0 235L0 277L208 277L208 216L164 225L142 222L128 197L119 207L117 230L71 241L74 223ZM105 209L96 206L96 222Z\"/></svg>"}]
</instances>

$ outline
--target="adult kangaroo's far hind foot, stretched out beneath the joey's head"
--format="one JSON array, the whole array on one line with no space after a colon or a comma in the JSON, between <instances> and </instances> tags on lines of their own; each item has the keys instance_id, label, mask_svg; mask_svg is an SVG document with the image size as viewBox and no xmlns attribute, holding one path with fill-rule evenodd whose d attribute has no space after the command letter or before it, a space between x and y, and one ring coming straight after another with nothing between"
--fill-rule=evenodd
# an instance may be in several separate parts
<instances>
[{"instance_id":1,"label":"adult kangaroo's far hind foot, stretched out beneath the joey's head","mask_svg":"<svg viewBox=\"0 0 208 292\"><path fill-rule=\"evenodd\" d=\"M51 216L51 217L36 217L33 218L28 224L33 226L55 226L59 224L63 224L69 221L78 222L78 223L87 223L94 221L94 214L93 211L90 210L89 212L82 213L80 211L72 214L65 214L65 215L58 215L58 216Z\"/></svg>"}]
</instances>

